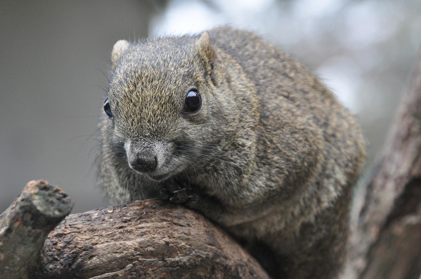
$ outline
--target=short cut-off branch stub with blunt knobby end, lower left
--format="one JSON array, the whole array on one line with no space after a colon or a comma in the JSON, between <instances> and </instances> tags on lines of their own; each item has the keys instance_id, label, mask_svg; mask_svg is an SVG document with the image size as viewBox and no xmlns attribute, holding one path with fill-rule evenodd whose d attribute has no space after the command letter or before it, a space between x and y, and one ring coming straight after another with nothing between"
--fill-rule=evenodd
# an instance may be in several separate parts
<instances>
[{"instance_id":1,"label":"short cut-off branch stub with blunt knobby end, lower left","mask_svg":"<svg viewBox=\"0 0 421 279\"><path fill-rule=\"evenodd\" d=\"M0 215L0 278L27 278L45 237L72 206L62 189L29 182Z\"/></svg>"}]
</instances>

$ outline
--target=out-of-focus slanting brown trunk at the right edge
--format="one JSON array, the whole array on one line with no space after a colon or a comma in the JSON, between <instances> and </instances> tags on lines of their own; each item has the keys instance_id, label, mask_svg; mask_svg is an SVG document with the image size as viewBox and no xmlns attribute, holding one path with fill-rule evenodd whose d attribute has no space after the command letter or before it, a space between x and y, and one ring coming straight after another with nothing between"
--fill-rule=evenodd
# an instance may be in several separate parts
<instances>
[{"instance_id":1,"label":"out-of-focus slanting brown trunk at the right edge","mask_svg":"<svg viewBox=\"0 0 421 279\"><path fill-rule=\"evenodd\" d=\"M366 186L343 278L416 278L421 273L421 52Z\"/></svg>"}]
</instances>

